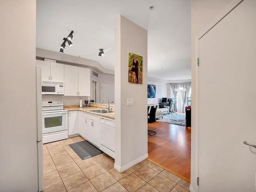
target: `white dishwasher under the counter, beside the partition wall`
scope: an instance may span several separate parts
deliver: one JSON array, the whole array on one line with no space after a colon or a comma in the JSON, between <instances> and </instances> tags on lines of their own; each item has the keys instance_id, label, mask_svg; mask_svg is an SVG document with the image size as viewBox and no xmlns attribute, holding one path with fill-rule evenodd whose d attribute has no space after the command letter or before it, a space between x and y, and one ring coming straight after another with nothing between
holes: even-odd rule
<instances>
[{"instance_id":1,"label":"white dishwasher under the counter, beside the partition wall","mask_svg":"<svg viewBox=\"0 0 256 192\"><path fill-rule=\"evenodd\" d=\"M103 146L102 151L104 151L104 147L106 147L105 148L106 151L111 150L112 152L115 152L115 120L105 118L105 117L100 117L99 122L100 122L100 144Z\"/></svg>"}]
</instances>

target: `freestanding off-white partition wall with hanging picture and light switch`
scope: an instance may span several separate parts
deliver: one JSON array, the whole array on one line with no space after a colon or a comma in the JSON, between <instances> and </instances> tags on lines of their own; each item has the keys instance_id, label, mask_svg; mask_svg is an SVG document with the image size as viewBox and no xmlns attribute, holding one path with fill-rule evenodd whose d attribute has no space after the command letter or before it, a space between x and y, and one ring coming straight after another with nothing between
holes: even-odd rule
<instances>
[{"instance_id":1,"label":"freestanding off-white partition wall with hanging picture and light switch","mask_svg":"<svg viewBox=\"0 0 256 192\"><path fill-rule=\"evenodd\" d=\"M128 53L143 56L143 84L128 82ZM133 98L134 106L126 106ZM115 168L147 155L147 31L123 16L115 20Z\"/></svg>"}]
</instances>

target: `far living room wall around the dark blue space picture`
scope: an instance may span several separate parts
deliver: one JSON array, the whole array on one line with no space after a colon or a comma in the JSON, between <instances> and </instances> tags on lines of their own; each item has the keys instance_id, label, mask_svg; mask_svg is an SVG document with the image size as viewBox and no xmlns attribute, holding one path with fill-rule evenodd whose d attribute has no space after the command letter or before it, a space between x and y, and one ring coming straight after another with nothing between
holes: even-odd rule
<instances>
[{"instance_id":1,"label":"far living room wall around the dark blue space picture","mask_svg":"<svg viewBox=\"0 0 256 192\"><path fill-rule=\"evenodd\" d=\"M167 83L157 81L147 81L147 84L156 85L156 98L147 98L147 104L155 104L162 101L162 97L167 97Z\"/></svg>"}]
</instances>

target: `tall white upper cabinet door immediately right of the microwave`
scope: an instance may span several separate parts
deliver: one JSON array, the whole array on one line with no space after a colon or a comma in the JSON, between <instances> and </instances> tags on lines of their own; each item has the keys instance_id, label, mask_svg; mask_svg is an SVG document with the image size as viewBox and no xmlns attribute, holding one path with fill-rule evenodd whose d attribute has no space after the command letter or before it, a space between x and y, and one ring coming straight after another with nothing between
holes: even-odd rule
<instances>
[{"instance_id":1,"label":"tall white upper cabinet door immediately right of the microwave","mask_svg":"<svg viewBox=\"0 0 256 192\"><path fill-rule=\"evenodd\" d=\"M65 65L64 72L65 95L78 95L78 67Z\"/></svg>"}]
</instances>

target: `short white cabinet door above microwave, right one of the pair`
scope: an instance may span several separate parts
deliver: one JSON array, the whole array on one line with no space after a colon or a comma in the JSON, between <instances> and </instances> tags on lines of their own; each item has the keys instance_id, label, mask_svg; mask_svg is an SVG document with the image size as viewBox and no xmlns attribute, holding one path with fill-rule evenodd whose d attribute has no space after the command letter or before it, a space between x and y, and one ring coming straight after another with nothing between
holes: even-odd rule
<instances>
[{"instance_id":1,"label":"short white cabinet door above microwave, right one of the pair","mask_svg":"<svg viewBox=\"0 0 256 192\"><path fill-rule=\"evenodd\" d=\"M51 62L51 81L64 82L64 65Z\"/></svg>"}]
</instances>

